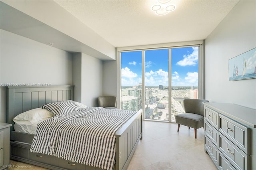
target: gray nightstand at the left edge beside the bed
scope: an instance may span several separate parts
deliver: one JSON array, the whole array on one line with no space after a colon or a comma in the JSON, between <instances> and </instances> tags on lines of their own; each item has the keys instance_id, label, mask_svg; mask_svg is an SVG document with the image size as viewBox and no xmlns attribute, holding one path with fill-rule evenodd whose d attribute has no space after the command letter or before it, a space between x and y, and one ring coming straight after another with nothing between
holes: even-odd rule
<instances>
[{"instance_id":1,"label":"gray nightstand at the left edge beside the bed","mask_svg":"<svg viewBox=\"0 0 256 170\"><path fill-rule=\"evenodd\" d=\"M10 127L8 123L0 123L0 170L7 169L10 164Z\"/></svg>"}]
</instances>

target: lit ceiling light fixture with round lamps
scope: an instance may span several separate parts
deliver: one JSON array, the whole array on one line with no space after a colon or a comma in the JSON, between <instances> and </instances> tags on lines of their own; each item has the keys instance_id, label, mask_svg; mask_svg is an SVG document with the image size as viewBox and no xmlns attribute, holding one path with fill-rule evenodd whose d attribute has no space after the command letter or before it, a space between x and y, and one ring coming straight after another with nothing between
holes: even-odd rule
<instances>
[{"instance_id":1,"label":"lit ceiling light fixture with round lamps","mask_svg":"<svg viewBox=\"0 0 256 170\"><path fill-rule=\"evenodd\" d=\"M171 11L174 11L176 5L170 4L172 0L158 0L158 3L151 7L157 15L166 15Z\"/></svg>"}]
</instances>

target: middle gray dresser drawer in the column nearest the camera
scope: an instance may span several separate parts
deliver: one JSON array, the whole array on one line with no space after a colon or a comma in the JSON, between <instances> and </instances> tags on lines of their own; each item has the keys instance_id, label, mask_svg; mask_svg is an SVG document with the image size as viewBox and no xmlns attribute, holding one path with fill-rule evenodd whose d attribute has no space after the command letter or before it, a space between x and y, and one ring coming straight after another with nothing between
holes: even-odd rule
<instances>
[{"instance_id":1,"label":"middle gray dresser drawer in the column nearest the camera","mask_svg":"<svg viewBox=\"0 0 256 170\"><path fill-rule=\"evenodd\" d=\"M219 133L219 150L227 160L239 170L247 170L249 167L249 155L233 144L228 138Z\"/></svg>"}]
</instances>

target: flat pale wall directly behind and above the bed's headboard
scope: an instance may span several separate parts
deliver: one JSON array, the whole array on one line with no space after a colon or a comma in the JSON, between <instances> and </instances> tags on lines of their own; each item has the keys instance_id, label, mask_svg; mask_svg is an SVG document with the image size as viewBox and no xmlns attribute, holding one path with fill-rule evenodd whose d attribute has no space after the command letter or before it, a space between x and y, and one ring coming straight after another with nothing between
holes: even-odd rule
<instances>
[{"instance_id":1,"label":"flat pale wall directly behind and above the bed's headboard","mask_svg":"<svg viewBox=\"0 0 256 170\"><path fill-rule=\"evenodd\" d=\"M6 122L5 83L72 85L72 54L0 30L0 122Z\"/></svg>"}]
</instances>

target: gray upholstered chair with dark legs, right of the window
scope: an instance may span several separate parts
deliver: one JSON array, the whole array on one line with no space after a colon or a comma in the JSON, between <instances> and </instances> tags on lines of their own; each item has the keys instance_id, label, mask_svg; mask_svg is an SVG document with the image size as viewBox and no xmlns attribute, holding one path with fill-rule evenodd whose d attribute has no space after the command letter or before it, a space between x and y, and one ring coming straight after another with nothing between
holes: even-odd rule
<instances>
[{"instance_id":1,"label":"gray upholstered chair with dark legs, right of the window","mask_svg":"<svg viewBox=\"0 0 256 170\"><path fill-rule=\"evenodd\" d=\"M185 113L175 115L176 123L178 123L178 132L180 125L192 127L195 131L198 128L204 127L204 104L203 102L209 102L208 100L202 99L184 99L184 110Z\"/></svg>"}]
</instances>

